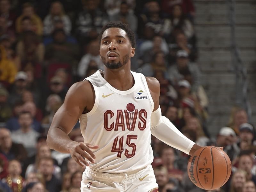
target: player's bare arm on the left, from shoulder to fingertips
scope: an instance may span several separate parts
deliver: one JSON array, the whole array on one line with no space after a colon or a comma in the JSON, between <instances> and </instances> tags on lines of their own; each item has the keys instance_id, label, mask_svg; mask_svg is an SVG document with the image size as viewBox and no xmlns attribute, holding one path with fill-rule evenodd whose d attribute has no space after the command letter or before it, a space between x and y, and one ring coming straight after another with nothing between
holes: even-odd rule
<instances>
[{"instance_id":1,"label":"player's bare arm on the left, from shoulder to fingertips","mask_svg":"<svg viewBox=\"0 0 256 192\"><path fill-rule=\"evenodd\" d=\"M70 153L71 157L82 167L89 165L84 158L93 162L95 156L89 143L78 143L68 137L75 126L78 118L84 109L92 108L94 95L92 86L88 81L73 84L67 92L64 103L53 117L52 124L47 134L47 144L49 148L61 153Z\"/></svg>"}]
</instances>

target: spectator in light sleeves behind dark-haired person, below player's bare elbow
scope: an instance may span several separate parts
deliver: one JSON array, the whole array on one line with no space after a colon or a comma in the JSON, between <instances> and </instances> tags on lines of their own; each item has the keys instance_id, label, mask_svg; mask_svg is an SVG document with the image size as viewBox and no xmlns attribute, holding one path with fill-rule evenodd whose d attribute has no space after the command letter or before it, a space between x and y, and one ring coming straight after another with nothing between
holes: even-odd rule
<instances>
[{"instance_id":1,"label":"spectator in light sleeves behind dark-haired person, below player's bare elbow","mask_svg":"<svg viewBox=\"0 0 256 192\"><path fill-rule=\"evenodd\" d=\"M37 152L36 152L36 161L33 164L28 165L27 170L26 170L26 177L28 173L30 172L38 172L38 164L41 158L43 157L52 157L51 156L51 150L50 148L44 144L41 145ZM56 160L54 160L56 162ZM53 174L55 175L56 178L60 179L61 178L61 170L60 167L57 165L54 165L53 168Z\"/></svg>"}]
</instances>

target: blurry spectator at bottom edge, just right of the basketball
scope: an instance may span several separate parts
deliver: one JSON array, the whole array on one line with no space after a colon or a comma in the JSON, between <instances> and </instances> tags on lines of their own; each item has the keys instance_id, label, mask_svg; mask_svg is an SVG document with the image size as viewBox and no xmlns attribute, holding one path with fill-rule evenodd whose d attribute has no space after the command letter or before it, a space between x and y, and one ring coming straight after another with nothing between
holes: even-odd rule
<instances>
[{"instance_id":1,"label":"blurry spectator at bottom edge, just right of the basketball","mask_svg":"<svg viewBox=\"0 0 256 192\"><path fill-rule=\"evenodd\" d=\"M237 170L231 179L230 192L243 192L243 187L246 182L246 172Z\"/></svg>"}]
</instances>

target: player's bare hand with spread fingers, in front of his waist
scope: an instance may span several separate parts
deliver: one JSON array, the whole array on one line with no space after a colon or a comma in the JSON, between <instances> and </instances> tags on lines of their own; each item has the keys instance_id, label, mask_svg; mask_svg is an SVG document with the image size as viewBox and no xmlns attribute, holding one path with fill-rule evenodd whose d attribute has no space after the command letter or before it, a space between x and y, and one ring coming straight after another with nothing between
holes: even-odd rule
<instances>
[{"instance_id":1,"label":"player's bare hand with spread fingers, in front of his waist","mask_svg":"<svg viewBox=\"0 0 256 192\"><path fill-rule=\"evenodd\" d=\"M92 145L90 143L78 143L73 142L69 148L71 157L78 163L81 167L89 166L89 163L85 161L84 158L88 159L92 163L95 163L94 159L96 158L91 149L99 148L98 145Z\"/></svg>"}]
</instances>

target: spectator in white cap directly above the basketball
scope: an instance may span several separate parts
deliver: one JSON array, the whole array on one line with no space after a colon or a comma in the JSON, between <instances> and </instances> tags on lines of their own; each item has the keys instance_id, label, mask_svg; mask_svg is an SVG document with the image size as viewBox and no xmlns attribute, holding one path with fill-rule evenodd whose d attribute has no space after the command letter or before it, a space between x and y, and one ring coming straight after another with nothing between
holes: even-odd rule
<instances>
[{"instance_id":1,"label":"spectator in white cap directly above the basketball","mask_svg":"<svg viewBox=\"0 0 256 192\"><path fill-rule=\"evenodd\" d=\"M236 133L230 127L222 127L217 135L216 146L224 147L232 161L239 154L239 147L236 144Z\"/></svg>"}]
</instances>

